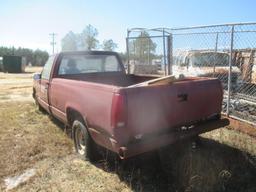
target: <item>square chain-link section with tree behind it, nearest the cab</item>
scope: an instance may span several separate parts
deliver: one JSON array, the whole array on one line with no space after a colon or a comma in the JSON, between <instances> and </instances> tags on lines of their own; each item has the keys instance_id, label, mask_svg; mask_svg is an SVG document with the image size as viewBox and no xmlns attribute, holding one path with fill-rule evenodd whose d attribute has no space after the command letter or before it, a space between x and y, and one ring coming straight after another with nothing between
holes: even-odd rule
<instances>
[{"instance_id":1,"label":"square chain-link section with tree behind it, nearest the cab","mask_svg":"<svg viewBox=\"0 0 256 192\"><path fill-rule=\"evenodd\" d=\"M128 71L134 74L167 75L170 33L136 28L128 30L128 36Z\"/></svg>"}]
</instances>

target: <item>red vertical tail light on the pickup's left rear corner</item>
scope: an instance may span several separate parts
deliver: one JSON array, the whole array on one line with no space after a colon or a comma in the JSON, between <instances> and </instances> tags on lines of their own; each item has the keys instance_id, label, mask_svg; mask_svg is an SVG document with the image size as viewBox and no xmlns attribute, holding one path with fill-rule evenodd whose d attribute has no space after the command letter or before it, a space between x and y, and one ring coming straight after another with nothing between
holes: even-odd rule
<instances>
[{"instance_id":1,"label":"red vertical tail light on the pickup's left rear corner","mask_svg":"<svg viewBox=\"0 0 256 192\"><path fill-rule=\"evenodd\" d=\"M114 94L111 111L111 126L113 128L124 127L126 125L126 108L124 95Z\"/></svg>"}]
</instances>

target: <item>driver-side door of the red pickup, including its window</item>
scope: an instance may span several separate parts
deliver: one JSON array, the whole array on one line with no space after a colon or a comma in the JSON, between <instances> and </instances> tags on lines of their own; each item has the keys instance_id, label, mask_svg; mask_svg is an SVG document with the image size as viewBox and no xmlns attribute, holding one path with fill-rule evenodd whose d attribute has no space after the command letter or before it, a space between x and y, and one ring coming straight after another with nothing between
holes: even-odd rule
<instances>
[{"instance_id":1,"label":"driver-side door of the red pickup, including its window","mask_svg":"<svg viewBox=\"0 0 256 192\"><path fill-rule=\"evenodd\" d=\"M48 61L46 62L42 74L41 74L41 82L40 82L40 90L38 94L38 102L40 105L49 111L49 100L48 100L48 89L49 89L49 81L50 81L50 75L52 70L52 65L54 63L55 56L49 57Z\"/></svg>"}]
</instances>

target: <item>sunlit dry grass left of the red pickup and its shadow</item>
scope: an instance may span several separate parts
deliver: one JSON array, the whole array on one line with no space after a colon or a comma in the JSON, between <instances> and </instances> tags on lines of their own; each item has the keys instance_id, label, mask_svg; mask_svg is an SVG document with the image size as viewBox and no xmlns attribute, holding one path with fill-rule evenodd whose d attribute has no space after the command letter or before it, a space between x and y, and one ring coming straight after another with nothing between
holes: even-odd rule
<instances>
[{"instance_id":1,"label":"sunlit dry grass left of the red pickup and its shadow","mask_svg":"<svg viewBox=\"0 0 256 192\"><path fill-rule=\"evenodd\" d=\"M0 186L3 179L36 169L17 191L121 191L128 189L113 173L82 161L61 124L36 110L31 102L0 104Z\"/></svg>"}]
</instances>

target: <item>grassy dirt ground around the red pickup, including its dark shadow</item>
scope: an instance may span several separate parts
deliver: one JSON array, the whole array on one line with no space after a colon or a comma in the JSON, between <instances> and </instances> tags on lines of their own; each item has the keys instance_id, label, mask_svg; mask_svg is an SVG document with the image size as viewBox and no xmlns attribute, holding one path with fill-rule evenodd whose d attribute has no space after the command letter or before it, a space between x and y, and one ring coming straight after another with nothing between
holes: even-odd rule
<instances>
[{"instance_id":1,"label":"grassy dirt ground around the red pickup, including its dark shadow","mask_svg":"<svg viewBox=\"0 0 256 192\"><path fill-rule=\"evenodd\" d=\"M63 125L33 103L38 70L0 73L0 191L28 169L35 175L10 191L256 191L256 138L228 127L196 148L186 140L126 161L80 159Z\"/></svg>"}]
</instances>

